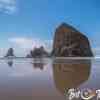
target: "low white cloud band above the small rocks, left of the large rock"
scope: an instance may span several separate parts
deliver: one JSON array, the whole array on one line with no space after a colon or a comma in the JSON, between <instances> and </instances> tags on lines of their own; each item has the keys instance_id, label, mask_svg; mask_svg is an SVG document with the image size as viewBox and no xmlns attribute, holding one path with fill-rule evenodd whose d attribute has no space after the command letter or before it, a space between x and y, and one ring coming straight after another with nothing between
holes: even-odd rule
<instances>
[{"instance_id":1,"label":"low white cloud band above the small rocks, left of the large rock","mask_svg":"<svg viewBox=\"0 0 100 100\"><path fill-rule=\"evenodd\" d=\"M46 49L52 45L52 40L41 40L38 38L10 38L8 41L23 49L32 49L34 47L44 46ZM50 49L50 48L49 48Z\"/></svg>"}]
</instances>

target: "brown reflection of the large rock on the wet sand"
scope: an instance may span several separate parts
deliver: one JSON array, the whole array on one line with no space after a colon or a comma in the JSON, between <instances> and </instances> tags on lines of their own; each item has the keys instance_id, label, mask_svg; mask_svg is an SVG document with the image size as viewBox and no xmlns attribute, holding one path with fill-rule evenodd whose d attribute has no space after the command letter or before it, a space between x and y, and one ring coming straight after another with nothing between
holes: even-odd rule
<instances>
[{"instance_id":1,"label":"brown reflection of the large rock on the wet sand","mask_svg":"<svg viewBox=\"0 0 100 100\"><path fill-rule=\"evenodd\" d=\"M79 87L88 80L90 68L90 61L53 64L53 75L56 88L64 94L64 89L68 91L68 89Z\"/></svg>"}]
</instances>

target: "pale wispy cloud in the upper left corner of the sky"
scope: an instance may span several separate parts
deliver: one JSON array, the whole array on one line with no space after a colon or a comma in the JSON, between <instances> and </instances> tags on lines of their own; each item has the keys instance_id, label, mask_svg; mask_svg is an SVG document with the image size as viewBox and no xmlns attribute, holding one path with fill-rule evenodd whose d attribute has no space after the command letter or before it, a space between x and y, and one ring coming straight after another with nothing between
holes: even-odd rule
<instances>
[{"instance_id":1,"label":"pale wispy cloud in the upper left corner of the sky","mask_svg":"<svg viewBox=\"0 0 100 100\"><path fill-rule=\"evenodd\" d=\"M0 0L0 12L12 14L16 9L16 0Z\"/></svg>"}]
</instances>

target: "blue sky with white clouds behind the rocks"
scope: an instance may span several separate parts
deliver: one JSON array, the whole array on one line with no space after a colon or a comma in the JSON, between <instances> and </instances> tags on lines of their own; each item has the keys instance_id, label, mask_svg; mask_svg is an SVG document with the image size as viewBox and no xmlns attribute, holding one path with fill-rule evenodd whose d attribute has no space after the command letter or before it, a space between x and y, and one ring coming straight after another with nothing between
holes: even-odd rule
<instances>
[{"instance_id":1,"label":"blue sky with white clouds behind the rocks","mask_svg":"<svg viewBox=\"0 0 100 100\"><path fill-rule=\"evenodd\" d=\"M100 0L0 0L0 56L13 47L24 56L43 45L52 49L55 29L66 22L100 46Z\"/></svg>"}]
</instances>

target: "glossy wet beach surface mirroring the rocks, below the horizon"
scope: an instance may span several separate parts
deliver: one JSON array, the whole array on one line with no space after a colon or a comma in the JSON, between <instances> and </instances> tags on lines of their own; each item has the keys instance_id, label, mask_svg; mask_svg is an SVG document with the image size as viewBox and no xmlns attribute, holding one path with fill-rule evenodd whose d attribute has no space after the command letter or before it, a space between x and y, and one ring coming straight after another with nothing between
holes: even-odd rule
<instances>
[{"instance_id":1,"label":"glossy wet beach surface mirroring the rocks, below the horizon","mask_svg":"<svg viewBox=\"0 0 100 100\"><path fill-rule=\"evenodd\" d=\"M65 89L100 89L100 59L1 59L0 100L67 100Z\"/></svg>"}]
</instances>

